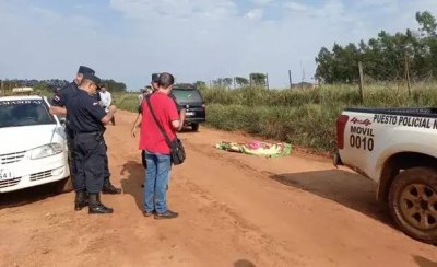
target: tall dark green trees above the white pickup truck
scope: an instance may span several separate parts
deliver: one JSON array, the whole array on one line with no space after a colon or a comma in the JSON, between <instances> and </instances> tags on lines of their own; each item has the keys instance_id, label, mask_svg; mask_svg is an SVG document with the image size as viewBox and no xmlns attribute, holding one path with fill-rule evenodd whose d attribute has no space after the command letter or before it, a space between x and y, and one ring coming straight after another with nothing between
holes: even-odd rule
<instances>
[{"instance_id":1,"label":"tall dark green trees above the white pickup truck","mask_svg":"<svg viewBox=\"0 0 437 267\"><path fill-rule=\"evenodd\" d=\"M316 57L315 78L326 83L352 83L359 79L362 62L366 79L413 81L437 78L437 22L428 12L416 12L418 31L394 35L381 31L377 37L357 45L322 47Z\"/></svg>"}]
</instances>

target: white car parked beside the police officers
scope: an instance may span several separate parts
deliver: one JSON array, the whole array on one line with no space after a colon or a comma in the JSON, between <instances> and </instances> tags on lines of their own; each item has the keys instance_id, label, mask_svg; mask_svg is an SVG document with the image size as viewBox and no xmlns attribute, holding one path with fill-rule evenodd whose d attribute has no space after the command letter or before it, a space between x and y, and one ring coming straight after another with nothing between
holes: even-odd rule
<instances>
[{"instance_id":1,"label":"white car parked beside the police officers","mask_svg":"<svg viewBox=\"0 0 437 267\"><path fill-rule=\"evenodd\" d=\"M42 96L0 97L0 193L59 182L71 190L64 127Z\"/></svg>"}]
</instances>

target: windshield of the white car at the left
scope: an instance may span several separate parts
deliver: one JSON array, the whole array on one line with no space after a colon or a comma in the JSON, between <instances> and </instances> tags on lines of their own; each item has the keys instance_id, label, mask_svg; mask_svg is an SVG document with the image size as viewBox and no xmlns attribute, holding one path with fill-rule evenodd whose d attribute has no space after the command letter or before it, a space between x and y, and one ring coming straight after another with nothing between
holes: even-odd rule
<instances>
[{"instance_id":1,"label":"windshield of the white car at the left","mask_svg":"<svg viewBox=\"0 0 437 267\"><path fill-rule=\"evenodd\" d=\"M0 128L55 124L43 100L0 101Z\"/></svg>"}]
</instances>

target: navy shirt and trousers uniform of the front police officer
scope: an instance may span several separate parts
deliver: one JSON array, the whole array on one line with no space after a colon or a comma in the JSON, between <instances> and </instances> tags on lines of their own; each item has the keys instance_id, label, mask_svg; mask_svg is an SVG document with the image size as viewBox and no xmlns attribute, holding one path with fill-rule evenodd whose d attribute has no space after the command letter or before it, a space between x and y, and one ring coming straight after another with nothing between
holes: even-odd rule
<instances>
[{"instance_id":1,"label":"navy shirt and trousers uniform of the front police officer","mask_svg":"<svg viewBox=\"0 0 437 267\"><path fill-rule=\"evenodd\" d=\"M107 169L105 130L101 123L106 116L105 109L95 96L78 90L67 103L69 127L74 132L75 150L75 190L90 194L102 191Z\"/></svg>"}]
</instances>

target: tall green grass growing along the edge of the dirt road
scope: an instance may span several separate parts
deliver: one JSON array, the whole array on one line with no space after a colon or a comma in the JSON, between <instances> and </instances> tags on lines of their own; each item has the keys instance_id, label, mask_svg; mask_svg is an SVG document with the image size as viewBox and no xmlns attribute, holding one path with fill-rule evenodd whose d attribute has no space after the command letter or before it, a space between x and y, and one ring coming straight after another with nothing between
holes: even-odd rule
<instances>
[{"instance_id":1,"label":"tall green grass growing along the edge of the dirt road","mask_svg":"<svg viewBox=\"0 0 437 267\"><path fill-rule=\"evenodd\" d=\"M409 94L402 84L374 84L361 103L356 85L322 85L310 90L202 90L208 125L291 142L316 152L335 149L335 120L345 107L435 106L437 83L417 83ZM138 94L116 95L122 109L137 111ZM232 141L232 140L229 140Z\"/></svg>"}]
</instances>

